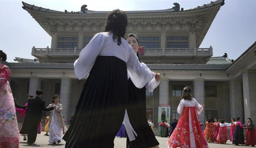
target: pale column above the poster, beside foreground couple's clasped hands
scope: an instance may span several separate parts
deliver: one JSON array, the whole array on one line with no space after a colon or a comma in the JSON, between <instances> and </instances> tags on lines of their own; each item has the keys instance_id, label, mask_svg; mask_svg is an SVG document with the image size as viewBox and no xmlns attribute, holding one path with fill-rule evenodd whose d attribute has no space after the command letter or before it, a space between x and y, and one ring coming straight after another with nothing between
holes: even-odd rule
<instances>
[{"instance_id":1,"label":"pale column above the poster, beside foreground couple's clasped hands","mask_svg":"<svg viewBox=\"0 0 256 148\"><path fill-rule=\"evenodd\" d=\"M169 105L169 79L161 78L159 84L159 105Z\"/></svg>"}]
</instances>

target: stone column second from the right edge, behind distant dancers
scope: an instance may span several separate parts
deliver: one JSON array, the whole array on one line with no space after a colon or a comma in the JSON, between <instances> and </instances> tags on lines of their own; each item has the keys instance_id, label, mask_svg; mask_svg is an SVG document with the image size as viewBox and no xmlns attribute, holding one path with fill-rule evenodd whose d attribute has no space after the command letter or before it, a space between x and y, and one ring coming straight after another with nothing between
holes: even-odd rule
<instances>
[{"instance_id":1,"label":"stone column second from the right edge, behind distant dancers","mask_svg":"<svg viewBox=\"0 0 256 148\"><path fill-rule=\"evenodd\" d=\"M241 84L241 80L232 79L229 82L231 118L235 119L236 117L241 117L241 119L244 119Z\"/></svg>"}]
</instances>

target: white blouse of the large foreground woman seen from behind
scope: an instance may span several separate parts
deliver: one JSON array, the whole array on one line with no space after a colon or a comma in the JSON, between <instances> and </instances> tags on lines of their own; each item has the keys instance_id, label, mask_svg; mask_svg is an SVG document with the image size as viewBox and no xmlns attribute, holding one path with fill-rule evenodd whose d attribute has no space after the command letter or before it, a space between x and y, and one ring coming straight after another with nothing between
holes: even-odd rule
<instances>
[{"instance_id":1,"label":"white blouse of the large foreground woman seen from behind","mask_svg":"<svg viewBox=\"0 0 256 148\"><path fill-rule=\"evenodd\" d=\"M132 47L124 38L121 42L121 45L117 45L117 41L113 41L113 34L109 32L95 34L74 62L74 73L78 79L88 76L98 56L114 56L127 64L127 72L137 88L142 88L150 82L155 74L147 66L140 64Z\"/></svg>"}]
</instances>

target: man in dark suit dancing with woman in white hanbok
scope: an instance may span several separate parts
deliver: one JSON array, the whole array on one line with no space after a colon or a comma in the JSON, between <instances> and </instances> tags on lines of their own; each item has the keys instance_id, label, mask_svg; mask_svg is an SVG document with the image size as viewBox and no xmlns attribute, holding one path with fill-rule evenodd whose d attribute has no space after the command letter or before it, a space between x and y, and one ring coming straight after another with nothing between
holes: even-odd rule
<instances>
[{"instance_id":1,"label":"man in dark suit dancing with woman in white hanbok","mask_svg":"<svg viewBox=\"0 0 256 148\"><path fill-rule=\"evenodd\" d=\"M20 130L20 134L27 134L28 145L31 145L36 140L37 128L42 118L42 111L50 111L56 108L56 106L46 108L44 100L41 99L42 95L42 90L36 90L36 97L28 99L27 114Z\"/></svg>"}]
</instances>

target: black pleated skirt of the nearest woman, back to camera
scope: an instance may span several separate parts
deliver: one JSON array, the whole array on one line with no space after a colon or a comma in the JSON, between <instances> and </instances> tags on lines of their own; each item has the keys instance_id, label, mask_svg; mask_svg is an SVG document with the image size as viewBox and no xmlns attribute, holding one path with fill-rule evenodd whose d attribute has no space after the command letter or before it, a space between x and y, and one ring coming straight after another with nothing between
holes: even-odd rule
<instances>
[{"instance_id":1,"label":"black pleated skirt of the nearest woman, back to camera","mask_svg":"<svg viewBox=\"0 0 256 148\"><path fill-rule=\"evenodd\" d=\"M77 103L65 148L114 148L128 97L126 63L98 56Z\"/></svg>"}]
</instances>

